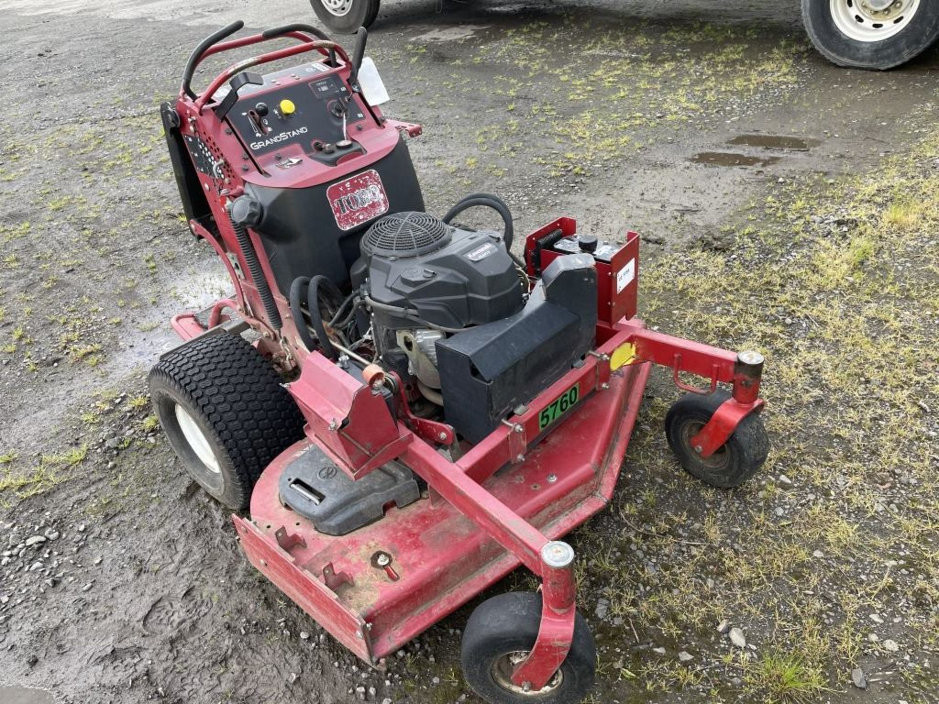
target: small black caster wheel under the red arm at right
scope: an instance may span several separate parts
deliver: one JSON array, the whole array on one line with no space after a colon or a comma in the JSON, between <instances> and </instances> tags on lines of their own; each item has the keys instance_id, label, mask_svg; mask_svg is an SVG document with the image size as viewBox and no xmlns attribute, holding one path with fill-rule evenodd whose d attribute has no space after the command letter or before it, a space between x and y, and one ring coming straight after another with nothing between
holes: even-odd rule
<instances>
[{"instance_id":1,"label":"small black caster wheel under the red arm at right","mask_svg":"<svg viewBox=\"0 0 939 704\"><path fill-rule=\"evenodd\" d=\"M769 453L769 436L762 419L751 413L740 422L730 439L710 457L701 457L691 447L691 438L711 420L731 394L717 390L703 396L688 393L676 401L665 417L665 435L682 467L702 482L730 489L756 474Z\"/></svg>"}]
</instances>

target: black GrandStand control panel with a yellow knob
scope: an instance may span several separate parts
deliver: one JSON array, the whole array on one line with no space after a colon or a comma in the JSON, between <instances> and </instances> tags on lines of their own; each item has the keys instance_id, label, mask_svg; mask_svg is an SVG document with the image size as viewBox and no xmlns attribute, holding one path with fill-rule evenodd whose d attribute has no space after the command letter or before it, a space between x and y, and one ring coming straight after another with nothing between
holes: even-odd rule
<instances>
[{"instance_id":1,"label":"black GrandStand control panel with a yellow knob","mask_svg":"<svg viewBox=\"0 0 939 704\"><path fill-rule=\"evenodd\" d=\"M241 84L226 118L252 157L288 145L326 162L355 151L348 134L365 115L359 99L332 71L318 61L257 77L258 84ZM221 91L216 97L223 97Z\"/></svg>"}]
</instances>

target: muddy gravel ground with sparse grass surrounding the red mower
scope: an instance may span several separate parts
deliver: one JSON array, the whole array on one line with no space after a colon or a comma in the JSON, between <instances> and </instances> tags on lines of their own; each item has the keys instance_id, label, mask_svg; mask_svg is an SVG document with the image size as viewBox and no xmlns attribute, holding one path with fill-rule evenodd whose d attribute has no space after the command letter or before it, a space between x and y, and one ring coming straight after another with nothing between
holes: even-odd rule
<instances>
[{"instance_id":1,"label":"muddy gravel ground with sparse grass surrounding the red mower","mask_svg":"<svg viewBox=\"0 0 939 704\"><path fill-rule=\"evenodd\" d=\"M150 415L169 316L226 288L159 103L210 28L313 17L221 5L0 0L0 700L474 701L476 602L363 667L254 573ZM594 702L939 701L939 54L836 69L797 6L388 3L370 35L429 210L484 189L522 231L638 230L651 325L767 355L758 480L678 470L660 373L571 537Z\"/></svg>"}]
</instances>

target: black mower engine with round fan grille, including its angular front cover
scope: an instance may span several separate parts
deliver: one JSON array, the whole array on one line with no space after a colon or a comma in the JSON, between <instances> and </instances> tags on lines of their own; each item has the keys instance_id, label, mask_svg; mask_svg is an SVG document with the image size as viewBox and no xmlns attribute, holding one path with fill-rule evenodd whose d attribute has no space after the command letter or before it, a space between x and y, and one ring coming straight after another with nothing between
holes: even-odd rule
<instances>
[{"instance_id":1,"label":"black mower engine with round fan grille, including its angular front cover","mask_svg":"<svg viewBox=\"0 0 939 704\"><path fill-rule=\"evenodd\" d=\"M529 291L503 236L398 212L362 237L350 275L382 366L478 442L593 346L596 270L559 257ZM362 313L365 315L366 313Z\"/></svg>"}]
</instances>

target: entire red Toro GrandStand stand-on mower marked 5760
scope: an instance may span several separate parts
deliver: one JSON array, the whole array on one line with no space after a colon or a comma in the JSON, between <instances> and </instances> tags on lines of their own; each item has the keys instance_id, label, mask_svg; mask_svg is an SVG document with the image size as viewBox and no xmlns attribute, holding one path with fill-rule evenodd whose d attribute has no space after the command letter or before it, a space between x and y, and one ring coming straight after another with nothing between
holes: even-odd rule
<instances>
[{"instance_id":1,"label":"entire red Toro GrandStand stand-on mower marked 5760","mask_svg":"<svg viewBox=\"0 0 939 704\"><path fill-rule=\"evenodd\" d=\"M150 375L162 427L209 494L250 506L233 521L254 567L372 666L525 565L541 589L476 608L466 679L489 702L575 702L596 656L559 539L611 497L652 363L692 391L666 421L679 461L730 487L768 448L762 358L634 318L635 233L561 218L519 257L494 195L425 213L402 135L421 128L381 115L364 30L349 57L302 24L224 40L241 26L162 106L192 233L234 287L173 319L184 342ZM274 39L295 43L193 91L208 56ZM504 229L457 224L470 207Z\"/></svg>"}]
</instances>

